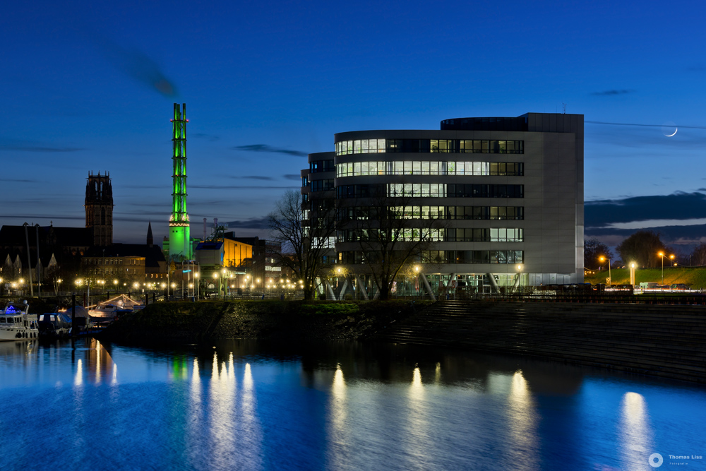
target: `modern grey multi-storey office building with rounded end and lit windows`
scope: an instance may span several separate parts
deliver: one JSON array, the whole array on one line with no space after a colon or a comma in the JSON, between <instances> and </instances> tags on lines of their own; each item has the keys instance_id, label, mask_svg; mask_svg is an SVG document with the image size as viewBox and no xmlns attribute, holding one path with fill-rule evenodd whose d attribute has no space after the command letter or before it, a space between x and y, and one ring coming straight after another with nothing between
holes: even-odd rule
<instances>
[{"instance_id":1,"label":"modern grey multi-storey office building with rounded end and lit windows","mask_svg":"<svg viewBox=\"0 0 706 471\"><path fill-rule=\"evenodd\" d=\"M301 172L304 220L337 206L335 254L354 273L381 257L370 242L390 217L403 220L395 237L420 242L407 264L421 290L583 282L583 145L580 114L337 133Z\"/></svg>"}]
</instances>

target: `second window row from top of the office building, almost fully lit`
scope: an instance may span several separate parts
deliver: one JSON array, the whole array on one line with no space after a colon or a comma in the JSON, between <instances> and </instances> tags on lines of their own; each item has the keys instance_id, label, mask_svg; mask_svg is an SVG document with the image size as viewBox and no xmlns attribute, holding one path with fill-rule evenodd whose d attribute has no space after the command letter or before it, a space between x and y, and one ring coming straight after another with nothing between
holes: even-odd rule
<instances>
[{"instance_id":1,"label":"second window row from top of the office building, almost fully lit","mask_svg":"<svg viewBox=\"0 0 706 471\"><path fill-rule=\"evenodd\" d=\"M370 175L507 175L522 177L522 162L347 162L336 165L336 177Z\"/></svg>"}]
</instances>

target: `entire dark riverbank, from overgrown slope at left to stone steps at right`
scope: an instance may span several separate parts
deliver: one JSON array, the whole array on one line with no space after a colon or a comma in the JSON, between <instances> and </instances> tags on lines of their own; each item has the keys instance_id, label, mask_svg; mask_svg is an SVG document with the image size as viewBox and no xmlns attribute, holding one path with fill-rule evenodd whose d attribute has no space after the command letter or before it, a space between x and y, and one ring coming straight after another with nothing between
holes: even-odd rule
<instances>
[{"instance_id":1,"label":"entire dark riverbank, from overgrown slope at left to stone steps at right","mask_svg":"<svg viewBox=\"0 0 706 471\"><path fill-rule=\"evenodd\" d=\"M226 339L373 340L518 354L706 383L706 306L165 302L121 318L100 337L139 345Z\"/></svg>"}]
</instances>

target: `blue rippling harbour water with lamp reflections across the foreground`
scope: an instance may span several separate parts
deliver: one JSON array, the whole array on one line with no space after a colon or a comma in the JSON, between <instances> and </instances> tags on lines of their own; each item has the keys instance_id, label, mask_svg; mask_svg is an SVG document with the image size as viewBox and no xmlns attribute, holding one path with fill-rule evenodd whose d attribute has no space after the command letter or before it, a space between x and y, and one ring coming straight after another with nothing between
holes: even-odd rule
<instances>
[{"instance_id":1,"label":"blue rippling harbour water with lamp reflections across the foreground","mask_svg":"<svg viewBox=\"0 0 706 471\"><path fill-rule=\"evenodd\" d=\"M688 383L353 342L0 343L2 470L699 470L705 460L706 388Z\"/></svg>"}]
</instances>

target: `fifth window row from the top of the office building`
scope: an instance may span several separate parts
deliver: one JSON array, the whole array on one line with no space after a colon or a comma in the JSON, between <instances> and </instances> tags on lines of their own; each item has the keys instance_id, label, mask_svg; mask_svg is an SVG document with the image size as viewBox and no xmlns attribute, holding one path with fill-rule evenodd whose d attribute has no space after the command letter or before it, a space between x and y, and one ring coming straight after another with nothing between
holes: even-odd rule
<instances>
[{"instance_id":1,"label":"fifth window row from the top of the office building","mask_svg":"<svg viewBox=\"0 0 706 471\"><path fill-rule=\"evenodd\" d=\"M343 229L338 231L337 242L357 242L359 240L373 240L378 234L376 229ZM395 240L418 241L419 239L435 242L522 242L523 229L518 228L472 228L472 229L434 229L434 228L405 228L399 229L399 236Z\"/></svg>"}]
</instances>

